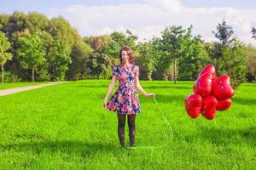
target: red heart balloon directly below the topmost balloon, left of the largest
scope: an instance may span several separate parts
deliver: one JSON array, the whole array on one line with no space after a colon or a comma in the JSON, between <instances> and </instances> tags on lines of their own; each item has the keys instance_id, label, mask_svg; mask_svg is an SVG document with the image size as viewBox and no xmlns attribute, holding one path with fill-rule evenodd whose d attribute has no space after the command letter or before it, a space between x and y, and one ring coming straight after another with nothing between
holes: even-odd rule
<instances>
[{"instance_id":1,"label":"red heart balloon directly below the topmost balloon, left of the largest","mask_svg":"<svg viewBox=\"0 0 256 170\"><path fill-rule=\"evenodd\" d=\"M212 92L212 74L205 73L198 77L195 82L194 88L195 94L200 94L202 97L205 97Z\"/></svg>"}]
</instances>

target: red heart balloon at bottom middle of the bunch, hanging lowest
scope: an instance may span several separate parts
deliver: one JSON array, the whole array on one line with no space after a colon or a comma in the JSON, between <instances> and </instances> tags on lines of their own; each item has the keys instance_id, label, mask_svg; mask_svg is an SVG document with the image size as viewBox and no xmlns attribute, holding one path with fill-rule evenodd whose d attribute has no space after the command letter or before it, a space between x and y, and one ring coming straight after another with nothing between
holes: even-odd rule
<instances>
[{"instance_id":1,"label":"red heart balloon at bottom middle of the bunch, hanging lowest","mask_svg":"<svg viewBox=\"0 0 256 170\"><path fill-rule=\"evenodd\" d=\"M212 95L202 98L201 115L212 120L215 117L217 102Z\"/></svg>"}]
</instances>

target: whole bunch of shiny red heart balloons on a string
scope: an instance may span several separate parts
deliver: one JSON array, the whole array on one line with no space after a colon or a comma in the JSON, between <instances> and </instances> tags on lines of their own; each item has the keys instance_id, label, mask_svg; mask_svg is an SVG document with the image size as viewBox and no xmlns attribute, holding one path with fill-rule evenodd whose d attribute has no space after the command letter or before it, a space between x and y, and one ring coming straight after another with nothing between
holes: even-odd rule
<instances>
[{"instance_id":1,"label":"whole bunch of shiny red heart balloons on a string","mask_svg":"<svg viewBox=\"0 0 256 170\"><path fill-rule=\"evenodd\" d=\"M215 67L207 65L203 68L194 85L194 94L185 99L184 105L191 118L200 115L212 120L216 111L228 110L234 90L230 85L230 77L217 77Z\"/></svg>"}]
</instances>

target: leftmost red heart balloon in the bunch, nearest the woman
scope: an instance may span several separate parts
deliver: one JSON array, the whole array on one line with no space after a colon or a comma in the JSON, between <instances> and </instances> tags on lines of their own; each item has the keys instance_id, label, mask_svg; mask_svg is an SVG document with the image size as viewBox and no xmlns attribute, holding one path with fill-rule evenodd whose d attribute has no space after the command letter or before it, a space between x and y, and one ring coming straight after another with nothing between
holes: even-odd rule
<instances>
[{"instance_id":1,"label":"leftmost red heart balloon in the bunch, nearest the woman","mask_svg":"<svg viewBox=\"0 0 256 170\"><path fill-rule=\"evenodd\" d=\"M201 95L199 94L191 94L185 99L184 105L190 117L196 118L200 115L201 102Z\"/></svg>"}]
</instances>

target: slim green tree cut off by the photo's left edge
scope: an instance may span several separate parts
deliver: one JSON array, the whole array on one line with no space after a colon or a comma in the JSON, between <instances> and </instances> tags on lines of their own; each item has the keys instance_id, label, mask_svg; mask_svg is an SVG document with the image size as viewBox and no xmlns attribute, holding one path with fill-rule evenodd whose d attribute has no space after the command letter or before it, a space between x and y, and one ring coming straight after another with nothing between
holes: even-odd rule
<instances>
[{"instance_id":1,"label":"slim green tree cut off by the photo's left edge","mask_svg":"<svg viewBox=\"0 0 256 170\"><path fill-rule=\"evenodd\" d=\"M10 43L8 41L8 38L5 37L2 31L0 31L0 65L2 70L2 85L4 80L3 65L5 65L7 60L12 59L12 54L6 52L9 48L10 48Z\"/></svg>"}]
</instances>

